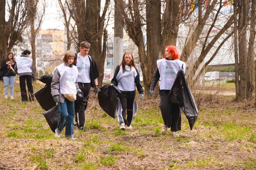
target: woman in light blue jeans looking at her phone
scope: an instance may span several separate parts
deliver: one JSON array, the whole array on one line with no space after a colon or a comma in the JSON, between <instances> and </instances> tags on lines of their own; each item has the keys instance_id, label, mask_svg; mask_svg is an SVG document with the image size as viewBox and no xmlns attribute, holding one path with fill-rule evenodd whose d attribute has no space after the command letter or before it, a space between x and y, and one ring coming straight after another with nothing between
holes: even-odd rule
<instances>
[{"instance_id":1,"label":"woman in light blue jeans looking at her phone","mask_svg":"<svg viewBox=\"0 0 256 170\"><path fill-rule=\"evenodd\" d=\"M14 99L13 94L14 94L14 82L15 82L15 76L16 74L14 73L14 67L15 67L15 60L14 60L14 55L13 52L9 52L7 54L7 58L2 61L1 64L1 75L0 77L3 77L4 81L4 98L8 98L8 88L10 86L10 98Z\"/></svg>"}]
</instances>

